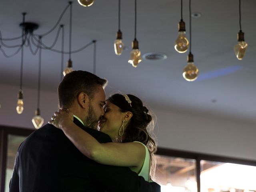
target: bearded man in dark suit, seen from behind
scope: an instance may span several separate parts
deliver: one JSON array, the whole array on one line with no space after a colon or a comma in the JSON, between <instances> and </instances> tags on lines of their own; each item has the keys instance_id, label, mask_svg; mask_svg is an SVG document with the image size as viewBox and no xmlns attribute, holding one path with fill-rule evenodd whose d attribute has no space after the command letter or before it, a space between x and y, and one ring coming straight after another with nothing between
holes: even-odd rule
<instances>
[{"instance_id":1,"label":"bearded man in dark suit, seen from behind","mask_svg":"<svg viewBox=\"0 0 256 192\"><path fill-rule=\"evenodd\" d=\"M67 74L58 87L60 108L69 108L74 123L99 142L112 142L95 130L104 115L106 80L86 71ZM54 118L53 118L54 120ZM98 164L84 156L62 130L46 124L18 149L10 192L160 192L126 167Z\"/></svg>"}]
</instances>

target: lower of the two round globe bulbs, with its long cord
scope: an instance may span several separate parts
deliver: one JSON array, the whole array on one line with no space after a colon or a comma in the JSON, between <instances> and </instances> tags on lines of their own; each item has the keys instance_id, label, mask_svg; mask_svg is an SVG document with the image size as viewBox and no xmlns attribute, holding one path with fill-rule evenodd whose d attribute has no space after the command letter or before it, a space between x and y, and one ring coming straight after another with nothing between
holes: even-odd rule
<instances>
[{"instance_id":1,"label":"lower of the two round globe bulbs, with its long cord","mask_svg":"<svg viewBox=\"0 0 256 192\"><path fill-rule=\"evenodd\" d=\"M190 39L190 45L189 45L189 54L187 56L188 64L183 69L183 77L187 81L194 81L198 77L198 68L194 65L194 56L191 53L191 44L192 44L192 38L191 38L191 0L189 0L189 39Z\"/></svg>"}]
</instances>

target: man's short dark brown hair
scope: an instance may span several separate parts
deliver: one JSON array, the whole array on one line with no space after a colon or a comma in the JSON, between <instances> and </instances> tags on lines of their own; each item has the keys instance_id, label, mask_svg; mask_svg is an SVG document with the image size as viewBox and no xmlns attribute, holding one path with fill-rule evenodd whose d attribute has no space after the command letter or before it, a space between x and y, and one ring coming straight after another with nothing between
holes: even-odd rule
<instances>
[{"instance_id":1,"label":"man's short dark brown hair","mask_svg":"<svg viewBox=\"0 0 256 192\"><path fill-rule=\"evenodd\" d=\"M101 85L105 88L107 84L106 79L99 78L87 71L79 70L66 74L58 86L60 108L69 108L81 92L86 93L92 99L95 92L98 91L97 86Z\"/></svg>"}]
</instances>

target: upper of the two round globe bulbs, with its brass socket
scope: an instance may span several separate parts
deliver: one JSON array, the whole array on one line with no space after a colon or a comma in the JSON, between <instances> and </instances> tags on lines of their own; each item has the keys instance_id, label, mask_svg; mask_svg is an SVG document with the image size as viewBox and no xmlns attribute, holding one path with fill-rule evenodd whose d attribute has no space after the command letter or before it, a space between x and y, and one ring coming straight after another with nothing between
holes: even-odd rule
<instances>
[{"instance_id":1,"label":"upper of the two round globe bulbs, with its brass socket","mask_svg":"<svg viewBox=\"0 0 256 192\"><path fill-rule=\"evenodd\" d=\"M174 48L178 53L185 53L188 50L188 39L186 38L185 22L180 20L178 23L178 38L175 41Z\"/></svg>"}]
</instances>

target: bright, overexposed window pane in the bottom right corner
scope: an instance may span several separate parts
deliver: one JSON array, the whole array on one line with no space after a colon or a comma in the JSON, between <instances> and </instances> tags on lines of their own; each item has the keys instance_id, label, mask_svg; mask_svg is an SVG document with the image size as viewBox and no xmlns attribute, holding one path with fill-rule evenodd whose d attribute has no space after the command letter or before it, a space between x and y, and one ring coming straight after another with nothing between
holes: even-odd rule
<instances>
[{"instance_id":1,"label":"bright, overexposed window pane in the bottom right corner","mask_svg":"<svg viewBox=\"0 0 256 192\"><path fill-rule=\"evenodd\" d=\"M201 161L201 192L255 192L256 166Z\"/></svg>"}]
</instances>

